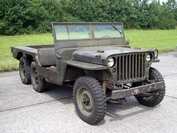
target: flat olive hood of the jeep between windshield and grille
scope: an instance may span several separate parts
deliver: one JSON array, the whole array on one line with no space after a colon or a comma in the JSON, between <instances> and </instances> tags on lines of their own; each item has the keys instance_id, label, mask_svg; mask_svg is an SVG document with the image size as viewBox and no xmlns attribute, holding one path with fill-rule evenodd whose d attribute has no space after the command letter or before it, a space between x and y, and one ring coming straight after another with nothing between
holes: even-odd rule
<instances>
[{"instance_id":1,"label":"flat olive hood of the jeep between windshield and grille","mask_svg":"<svg viewBox=\"0 0 177 133\"><path fill-rule=\"evenodd\" d=\"M103 61L111 55L125 54L125 53L142 53L146 52L139 49L131 49L126 47L86 47L73 52L72 59L82 62L89 62L94 64L103 64Z\"/></svg>"}]
</instances>

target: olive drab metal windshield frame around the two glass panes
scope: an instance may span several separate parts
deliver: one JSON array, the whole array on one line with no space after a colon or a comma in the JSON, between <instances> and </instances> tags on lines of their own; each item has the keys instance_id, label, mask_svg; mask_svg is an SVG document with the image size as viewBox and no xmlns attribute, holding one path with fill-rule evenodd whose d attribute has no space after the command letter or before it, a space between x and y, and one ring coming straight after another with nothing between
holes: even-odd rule
<instances>
[{"instance_id":1,"label":"olive drab metal windshield frame around the two glass panes","mask_svg":"<svg viewBox=\"0 0 177 133\"><path fill-rule=\"evenodd\" d=\"M90 38L82 39L62 39L59 40L56 37L55 26L84 26L88 25L90 30ZM112 37L112 38L95 38L93 31L93 26L96 25L119 25L122 29L122 37ZM54 45L56 49L60 48L76 48L76 47L92 47L92 46L108 46L108 45L119 45L125 46L125 36L123 24L121 22L53 22L52 23ZM118 31L117 31L118 32Z\"/></svg>"}]
</instances>

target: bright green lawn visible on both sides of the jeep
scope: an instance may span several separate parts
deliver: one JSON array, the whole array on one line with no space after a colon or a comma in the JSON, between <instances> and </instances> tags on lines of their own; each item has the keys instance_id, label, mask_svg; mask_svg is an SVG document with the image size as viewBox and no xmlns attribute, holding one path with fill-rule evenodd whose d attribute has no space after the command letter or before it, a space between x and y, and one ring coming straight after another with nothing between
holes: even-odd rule
<instances>
[{"instance_id":1,"label":"bright green lawn visible on both sides of the jeep","mask_svg":"<svg viewBox=\"0 0 177 133\"><path fill-rule=\"evenodd\" d=\"M160 52L174 51L177 44L175 30L126 30L130 46L144 50L157 48ZM12 57L11 46L52 44L51 33L36 35L0 36L0 72L18 69L18 61Z\"/></svg>"}]
</instances>

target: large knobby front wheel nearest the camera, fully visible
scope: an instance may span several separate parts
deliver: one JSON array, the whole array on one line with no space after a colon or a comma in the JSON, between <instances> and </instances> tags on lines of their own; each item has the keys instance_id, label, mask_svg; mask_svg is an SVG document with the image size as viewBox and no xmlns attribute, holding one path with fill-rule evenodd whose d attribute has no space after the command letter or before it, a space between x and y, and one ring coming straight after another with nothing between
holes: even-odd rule
<instances>
[{"instance_id":1,"label":"large knobby front wheel nearest the camera, fully visible","mask_svg":"<svg viewBox=\"0 0 177 133\"><path fill-rule=\"evenodd\" d=\"M106 97L96 79L88 76L78 78L73 97L76 113L83 121L94 125L103 120L107 111Z\"/></svg>"}]
</instances>

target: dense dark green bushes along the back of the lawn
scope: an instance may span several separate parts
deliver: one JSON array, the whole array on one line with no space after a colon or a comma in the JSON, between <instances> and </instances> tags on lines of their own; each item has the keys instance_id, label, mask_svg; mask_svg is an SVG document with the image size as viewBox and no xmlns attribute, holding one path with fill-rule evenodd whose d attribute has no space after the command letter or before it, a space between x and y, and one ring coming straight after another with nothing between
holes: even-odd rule
<instances>
[{"instance_id":1,"label":"dense dark green bushes along the back of the lawn","mask_svg":"<svg viewBox=\"0 0 177 133\"><path fill-rule=\"evenodd\" d=\"M1 0L0 34L51 32L51 22L123 22L125 28L174 29L177 2L168 0Z\"/></svg>"}]
</instances>

